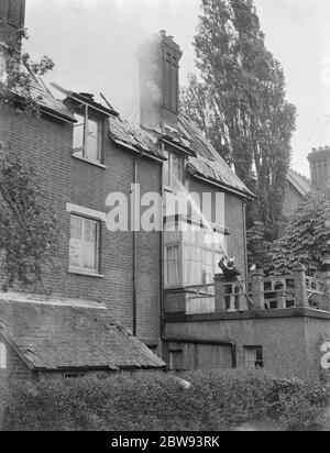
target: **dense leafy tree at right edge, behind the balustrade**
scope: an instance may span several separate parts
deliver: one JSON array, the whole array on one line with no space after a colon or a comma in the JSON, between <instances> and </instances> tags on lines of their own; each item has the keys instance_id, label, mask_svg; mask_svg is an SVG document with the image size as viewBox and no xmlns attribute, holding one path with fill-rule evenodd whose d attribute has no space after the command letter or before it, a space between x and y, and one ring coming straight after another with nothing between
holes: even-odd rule
<instances>
[{"instance_id":1,"label":"dense leafy tree at right edge, behind the balustrade","mask_svg":"<svg viewBox=\"0 0 330 453\"><path fill-rule=\"evenodd\" d=\"M311 192L298 207L284 235L271 248L272 269L286 273L304 264L314 274L330 258L330 187Z\"/></svg>"}]
</instances>

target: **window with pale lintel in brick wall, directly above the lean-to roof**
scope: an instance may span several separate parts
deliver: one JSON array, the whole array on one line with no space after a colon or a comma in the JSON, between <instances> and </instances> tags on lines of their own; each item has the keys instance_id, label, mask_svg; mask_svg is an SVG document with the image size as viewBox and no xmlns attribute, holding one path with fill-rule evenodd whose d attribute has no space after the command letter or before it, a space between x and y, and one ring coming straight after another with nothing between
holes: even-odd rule
<instances>
[{"instance_id":1,"label":"window with pale lintel in brick wall, directly above the lean-to roof","mask_svg":"<svg viewBox=\"0 0 330 453\"><path fill-rule=\"evenodd\" d=\"M99 272L99 222L70 216L69 269Z\"/></svg>"}]
</instances>

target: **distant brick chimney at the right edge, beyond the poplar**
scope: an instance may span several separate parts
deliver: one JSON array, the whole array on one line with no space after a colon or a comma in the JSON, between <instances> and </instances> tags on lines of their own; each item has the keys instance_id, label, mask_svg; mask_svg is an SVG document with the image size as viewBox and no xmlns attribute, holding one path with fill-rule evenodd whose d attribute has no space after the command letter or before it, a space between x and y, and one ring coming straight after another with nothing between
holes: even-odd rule
<instances>
[{"instance_id":1,"label":"distant brick chimney at the right edge, beyond the poplar","mask_svg":"<svg viewBox=\"0 0 330 453\"><path fill-rule=\"evenodd\" d=\"M330 183L330 146L312 148L308 155L311 184L322 189Z\"/></svg>"}]
</instances>

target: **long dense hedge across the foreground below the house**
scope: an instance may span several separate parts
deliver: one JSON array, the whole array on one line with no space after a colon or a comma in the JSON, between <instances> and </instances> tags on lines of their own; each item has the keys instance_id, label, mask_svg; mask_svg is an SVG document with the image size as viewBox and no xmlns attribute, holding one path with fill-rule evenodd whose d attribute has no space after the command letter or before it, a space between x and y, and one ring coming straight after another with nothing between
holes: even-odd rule
<instances>
[{"instance_id":1,"label":"long dense hedge across the foreground below the house","mask_svg":"<svg viewBox=\"0 0 330 453\"><path fill-rule=\"evenodd\" d=\"M11 383L0 388L2 430L223 431L271 422L283 430L330 429L329 391L263 372L190 372L108 379Z\"/></svg>"}]
</instances>

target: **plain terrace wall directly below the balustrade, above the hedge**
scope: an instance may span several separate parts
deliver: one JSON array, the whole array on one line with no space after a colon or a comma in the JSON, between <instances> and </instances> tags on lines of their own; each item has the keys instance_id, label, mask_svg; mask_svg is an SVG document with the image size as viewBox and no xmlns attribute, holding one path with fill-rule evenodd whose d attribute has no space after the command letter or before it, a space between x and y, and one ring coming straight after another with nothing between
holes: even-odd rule
<instances>
[{"instance_id":1,"label":"plain terrace wall directly below the balustrade, above the hedge","mask_svg":"<svg viewBox=\"0 0 330 453\"><path fill-rule=\"evenodd\" d=\"M329 319L318 318L317 311L310 317L287 312L264 319L238 319L234 314L221 320L200 317L195 322L167 322L166 336L183 342L233 341L238 367L245 366L245 346L262 346L265 371L279 377L315 380L320 379L320 339L329 339Z\"/></svg>"}]
</instances>

